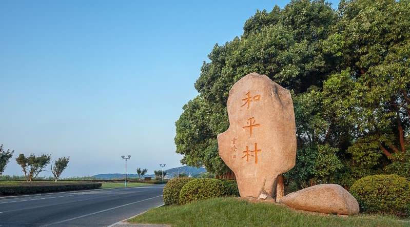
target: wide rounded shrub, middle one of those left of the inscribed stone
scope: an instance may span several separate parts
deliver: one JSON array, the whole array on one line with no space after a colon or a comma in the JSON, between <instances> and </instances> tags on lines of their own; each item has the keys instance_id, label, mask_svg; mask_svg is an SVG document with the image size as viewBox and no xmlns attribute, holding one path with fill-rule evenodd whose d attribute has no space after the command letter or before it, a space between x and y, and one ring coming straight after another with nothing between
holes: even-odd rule
<instances>
[{"instance_id":1,"label":"wide rounded shrub, middle one of those left of the inscribed stone","mask_svg":"<svg viewBox=\"0 0 410 227\"><path fill-rule=\"evenodd\" d=\"M222 180L209 178L193 179L182 187L179 201L180 204L186 204L191 201L225 196L226 192L227 189Z\"/></svg>"}]
</instances>

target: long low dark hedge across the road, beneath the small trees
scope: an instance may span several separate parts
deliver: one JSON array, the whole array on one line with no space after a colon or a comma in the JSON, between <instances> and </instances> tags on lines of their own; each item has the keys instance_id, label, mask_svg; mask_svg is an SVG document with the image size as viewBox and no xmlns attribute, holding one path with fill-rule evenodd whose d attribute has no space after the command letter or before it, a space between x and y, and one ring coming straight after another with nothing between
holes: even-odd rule
<instances>
[{"instance_id":1,"label":"long low dark hedge across the road, beneath the small trees","mask_svg":"<svg viewBox=\"0 0 410 227\"><path fill-rule=\"evenodd\" d=\"M45 192L62 192L101 188L101 183L95 182L2 182L0 195L33 194Z\"/></svg>"}]
</instances>

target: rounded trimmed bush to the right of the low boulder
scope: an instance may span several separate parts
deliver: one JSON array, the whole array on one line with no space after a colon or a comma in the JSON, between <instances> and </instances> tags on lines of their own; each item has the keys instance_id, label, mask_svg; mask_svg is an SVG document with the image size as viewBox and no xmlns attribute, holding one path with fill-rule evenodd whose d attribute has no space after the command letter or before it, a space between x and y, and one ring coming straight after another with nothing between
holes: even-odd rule
<instances>
[{"instance_id":1,"label":"rounded trimmed bush to the right of the low boulder","mask_svg":"<svg viewBox=\"0 0 410 227\"><path fill-rule=\"evenodd\" d=\"M368 213L409 215L410 182L398 175L372 175L357 180L350 188L360 209Z\"/></svg>"}]
</instances>

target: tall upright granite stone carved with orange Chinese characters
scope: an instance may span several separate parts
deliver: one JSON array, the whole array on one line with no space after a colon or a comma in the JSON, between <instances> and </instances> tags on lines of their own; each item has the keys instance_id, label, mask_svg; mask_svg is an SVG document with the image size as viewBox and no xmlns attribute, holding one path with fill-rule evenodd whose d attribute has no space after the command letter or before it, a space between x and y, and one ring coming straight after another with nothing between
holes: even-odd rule
<instances>
[{"instance_id":1,"label":"tall upright granite stone carved with orange Chinese characters","mask_svg":"<svg viewBox=\"0 0 410 227\"><path fill-rule=\"evenodd\" d=\"M229 91L227 110L229 129L218 135L219 155L235 173L241 197L271 197L277 176L295 166L290 92L265 75L251 73Z\"/></svg>"}]
</instances>

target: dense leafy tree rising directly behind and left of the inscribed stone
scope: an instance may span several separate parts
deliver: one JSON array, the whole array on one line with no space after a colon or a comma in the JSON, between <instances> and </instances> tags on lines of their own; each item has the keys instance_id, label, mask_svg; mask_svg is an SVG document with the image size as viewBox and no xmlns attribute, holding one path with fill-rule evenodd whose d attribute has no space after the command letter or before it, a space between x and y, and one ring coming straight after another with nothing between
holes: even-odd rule
<instances>
[{"instance_id":1,"label":"dense leafy tree rising directly behind and left of the inscribed stone","mask_svg":"<svg viewBox=\"0 0 410 227\"><path fill-rule=\"evenodd\" d=\"M246 74L266 74L295 94L321 87L333 66L322 46L335 18L323 1L294 1L284 9L258 11L246 21L241 37L216 44L195 84L199 96L184 106L176 122L181 162L216 174L229 171L218 155L217 135L229 126L228 92Z\"/></svg>"}]
</instances>

